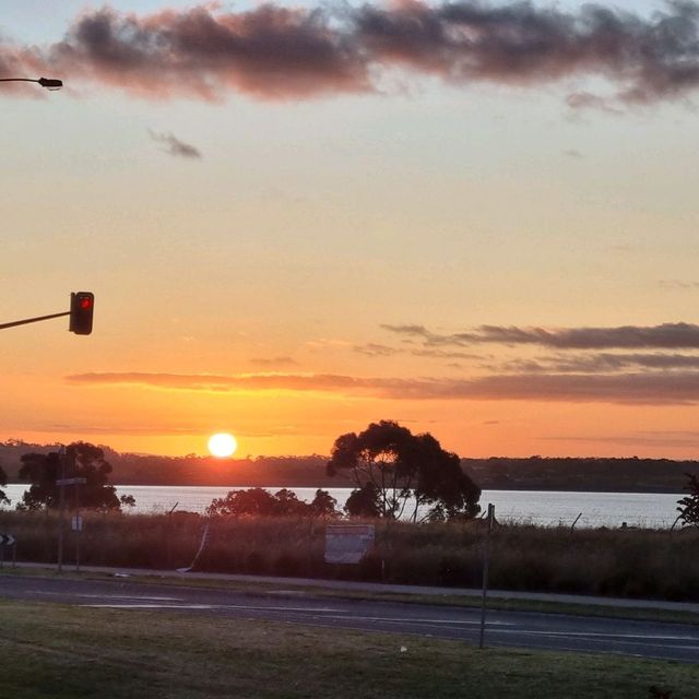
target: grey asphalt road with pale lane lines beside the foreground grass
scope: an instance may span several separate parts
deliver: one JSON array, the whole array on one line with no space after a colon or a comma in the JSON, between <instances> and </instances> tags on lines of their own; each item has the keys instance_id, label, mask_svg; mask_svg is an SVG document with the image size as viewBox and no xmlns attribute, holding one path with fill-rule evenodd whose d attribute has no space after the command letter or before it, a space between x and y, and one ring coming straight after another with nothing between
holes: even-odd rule
<instances>
[{"instance_id":1,"label":"grey asphalt road with pale lane lines beside the foreground grass","mask_svg":"<svg viewBox=\"0 0 699 699\"><path fill-rule=\"evenodd\" d=\"M331 628L408 633L477 643L477 609L316 597L283 589L264 594L108 581L0 576L0 599L93 608L175 609ZM617 653L699 662L699 627L530 612L487 614L486 644Z\"/></svg>"}]
</instances>

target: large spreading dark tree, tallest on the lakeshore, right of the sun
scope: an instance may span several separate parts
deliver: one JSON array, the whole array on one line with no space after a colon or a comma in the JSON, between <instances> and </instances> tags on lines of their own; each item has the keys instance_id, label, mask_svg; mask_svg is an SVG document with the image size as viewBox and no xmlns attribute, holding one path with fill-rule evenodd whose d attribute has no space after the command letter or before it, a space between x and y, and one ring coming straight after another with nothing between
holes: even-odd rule
<instances>
[{"instance_id":1,"label":"large spreading dark tree, tallest on the lakeshore, right of the sun","mask_svg":"<svg viewBox=\"0 0 699 699\"><path fill-rule=\"evenodd\" d=\"M343 471L357 486L345 505L350 516L439 521L481 511L481 488L462 471L459 457L431 435L413 435L394 422L337 437L327 472Z\"/></svg>"}]
</instances>

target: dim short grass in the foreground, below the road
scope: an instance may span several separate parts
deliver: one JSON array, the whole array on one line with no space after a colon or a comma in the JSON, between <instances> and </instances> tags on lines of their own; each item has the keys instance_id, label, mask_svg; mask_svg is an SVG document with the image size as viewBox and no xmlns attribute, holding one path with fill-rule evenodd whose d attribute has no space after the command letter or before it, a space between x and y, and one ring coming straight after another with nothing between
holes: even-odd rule
<instances>
[{"instance_id":1,"label":"dim short grass in the foreground, below the road","mask_svg":"<svg viewBox=\"0 0 699 699\"><path fill-rule=\"evenodd\" d=\"M13 699L699 698L696 666L215 615L0 602ZM403 650L405 649L405 650Z\"/></svg>"}]
</instances>

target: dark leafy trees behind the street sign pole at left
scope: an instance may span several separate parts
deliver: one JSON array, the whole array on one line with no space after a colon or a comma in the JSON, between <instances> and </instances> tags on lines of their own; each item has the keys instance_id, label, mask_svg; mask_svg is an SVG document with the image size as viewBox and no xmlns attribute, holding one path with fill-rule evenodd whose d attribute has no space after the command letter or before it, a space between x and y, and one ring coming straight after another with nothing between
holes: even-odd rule
<instances>
[{"instance_id":1,"label":"dark leafy trees behind the street sign pole at left","mask_svg":"<svg viewBox=\"0 0 699 699\"><path fill-rule=\"evenodd\" d=\"M28 481L31 486L17 509L57 508L60 503L60 488L56 481L61 477L86 479L86 483L79 486L66 486L68 507L73 505L73 494L79 487L81 507L120 509L121 501L116 488L109 483L111 466L105 461L104 451L99 447L82 441L73 442L66 448L63 459L64 463L61 464L61 457L55 451L48 454L32 452L21 457L19 477Z\"/></svg>"}]
</instances>

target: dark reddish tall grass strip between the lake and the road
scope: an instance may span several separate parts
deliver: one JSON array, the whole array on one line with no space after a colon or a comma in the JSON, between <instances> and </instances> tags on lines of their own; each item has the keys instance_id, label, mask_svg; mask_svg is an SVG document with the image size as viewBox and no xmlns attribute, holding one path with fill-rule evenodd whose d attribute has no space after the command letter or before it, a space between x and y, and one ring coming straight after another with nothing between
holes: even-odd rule
<instances>
[{"instance_id":1,"label":"dark reddish tall grass strip between the lake and the road","mask_svg":"<svg viewBox=\"0 0 699 699\"><path fill-rule=\"evenodd\" d=\"M375 549L358 566L337 566L323 560L322 521L212 520L197 568L408 584L479 584L481 522L374 523ZM204 518L192 513L88 512L81 534L81 562L156 569L188 566L205 524ZM0 511L0 532L17 537L17 560L56 561L55 513ZM74 537L73 532L66 532L67 564L74 557ZM697 552L697 529L571 532L568 528L501 525L491 535L490 584L508 590L699 600Z\"/></svg>"}]
</instances>

